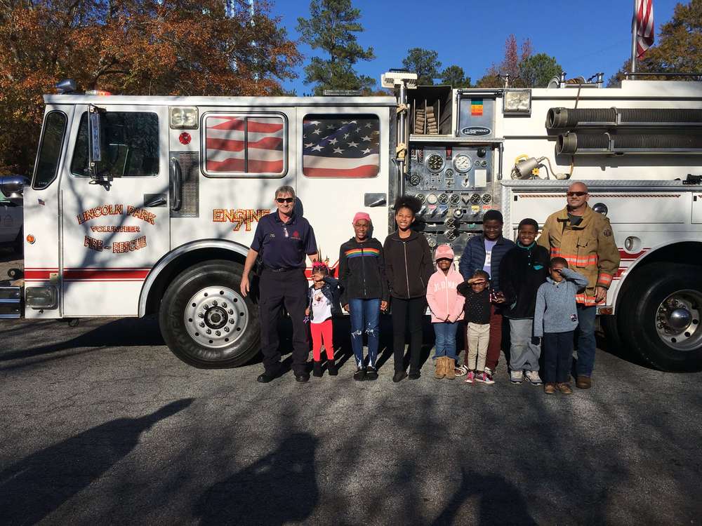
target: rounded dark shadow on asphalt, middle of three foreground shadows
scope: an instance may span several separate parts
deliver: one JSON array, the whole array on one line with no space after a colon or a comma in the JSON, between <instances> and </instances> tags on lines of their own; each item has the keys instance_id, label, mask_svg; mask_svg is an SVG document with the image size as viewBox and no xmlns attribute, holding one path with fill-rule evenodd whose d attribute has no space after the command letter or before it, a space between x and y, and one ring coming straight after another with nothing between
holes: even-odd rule
<instances>
[{"instance_id":1,"label":"rounded dark shadow on asphalt, middle of three foreground shadows","mask_svg":"<svg viewBox=\"0 0 702 526\"><path fill-rule=\"evenodd\" d=\"M210 487L194 505L201 525L282 525L310 517L319 500L317 438L286 437L276 450Z\"/></svg>"}]
</instances>

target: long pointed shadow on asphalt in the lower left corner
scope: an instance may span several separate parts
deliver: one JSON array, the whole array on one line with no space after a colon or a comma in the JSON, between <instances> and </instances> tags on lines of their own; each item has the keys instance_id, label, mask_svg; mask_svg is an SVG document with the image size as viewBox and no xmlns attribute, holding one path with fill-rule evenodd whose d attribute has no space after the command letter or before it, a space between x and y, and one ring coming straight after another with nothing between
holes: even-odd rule
<instances>
[{"instance_id":1,"label":"long pointed shadow on asphalt in the lower left corner","mask_svg":"<svg viewBox=\"0 0 702 526\"><path fill-rule=\"evenodd\" d=\"M3 524L34 524L98 480L139 443L141 433L188 407L183 398L140 418L119 418L29 455L0 473Z\"/></svg>"}]
</instances>

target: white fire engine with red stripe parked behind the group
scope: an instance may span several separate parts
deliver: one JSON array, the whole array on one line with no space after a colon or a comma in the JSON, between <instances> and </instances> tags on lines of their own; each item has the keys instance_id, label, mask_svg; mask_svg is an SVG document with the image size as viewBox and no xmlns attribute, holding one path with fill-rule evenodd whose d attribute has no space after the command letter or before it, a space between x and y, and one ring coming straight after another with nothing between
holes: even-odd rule
<instances>
[{"instance_id":1,"label":"white fire engine with red stripe parked behind the group","mask_svg":"<svg viewBox=\"0 0 702 526\"><path fill-rule=\"evenodd\" d=\"M62 83L44 97L24 284L2 289L4 316L157 313L185 362L241 365L259 330L239 280L277 187L296 189L334 264L355 212L381 240L395 228L398 194L422 201L432 247L460 254L485 210L502 210L514 238L581 180L621 252L598 307L608 341L663 369L702 365L701 83L451 89L390 71L383 85L395 96L115 96Z\"/></svg>"}]
</instances>

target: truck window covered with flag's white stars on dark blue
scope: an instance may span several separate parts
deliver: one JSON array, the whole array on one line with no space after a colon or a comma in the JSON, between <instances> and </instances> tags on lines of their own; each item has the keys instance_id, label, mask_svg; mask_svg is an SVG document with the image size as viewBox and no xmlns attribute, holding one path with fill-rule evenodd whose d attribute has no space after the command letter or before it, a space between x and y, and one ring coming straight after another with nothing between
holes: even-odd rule
<instances>
[{"instance_id":1,"label":"truck window covered with flag's white stars on dark blue","mask_svg":"<svg viewBox=\"0 0 702 526\"><path fill-rule=\"evenodd\" d=\"M377 117L316 116L303 121L307 177L375 177L380 166Z\"/></svg>"}]
</instances>

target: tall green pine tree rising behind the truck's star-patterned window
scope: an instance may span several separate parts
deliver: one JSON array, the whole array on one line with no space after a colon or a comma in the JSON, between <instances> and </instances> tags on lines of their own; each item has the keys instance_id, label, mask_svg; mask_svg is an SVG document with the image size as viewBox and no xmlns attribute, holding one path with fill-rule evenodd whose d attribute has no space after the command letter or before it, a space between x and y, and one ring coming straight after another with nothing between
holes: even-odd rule
<instances>
[{"instance_id":1,"label":"tall green pine tree rising behind the truck's star-patterned window","mask_svg":"<svg viewBox=\"0 0 702 526\"><path fill-rule=\"evenodd\" d=\"M356 33L363 31L358 22L361 12L351 0L312 0L310 18L298 18L301 40L312 49L321 49L329 58L313 57L305 66L305 84L314 84L314 95L324 90L367 90L376 81L359 75L354 65L359 60L373 60L373 48L363 48Z\"/></svg>"}]
</instances>

